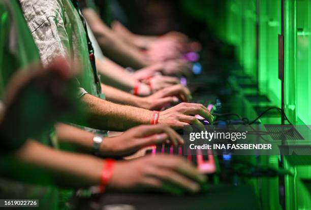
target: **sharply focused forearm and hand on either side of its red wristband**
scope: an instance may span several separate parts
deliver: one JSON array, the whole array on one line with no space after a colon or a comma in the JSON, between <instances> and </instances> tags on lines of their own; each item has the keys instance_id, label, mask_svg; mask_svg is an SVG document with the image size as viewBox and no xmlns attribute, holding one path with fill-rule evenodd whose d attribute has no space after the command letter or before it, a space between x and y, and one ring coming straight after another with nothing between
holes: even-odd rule
<instances>
[{"instance_id":1,"label":"sharply focused forearm and hand on either side of its red wristband","mask_svg":"<svg viewBox=\"0 0 311 210\"><path fill-rule=\"evenodd\" d=\"M83 95L81 102L86 109L80 117L83 119L86 117L87 122L77 123L96 129L124 131L137 125L149 124L152 117L149 110L115 104L89 94ZM210 123L213 122L213 116L202 104L179 103L160 112L158 123L176 129L182 129L184 125L189 124L202 127L203 124L194 117L195 115L202 116Z\"/></svg>"}]
</instances>

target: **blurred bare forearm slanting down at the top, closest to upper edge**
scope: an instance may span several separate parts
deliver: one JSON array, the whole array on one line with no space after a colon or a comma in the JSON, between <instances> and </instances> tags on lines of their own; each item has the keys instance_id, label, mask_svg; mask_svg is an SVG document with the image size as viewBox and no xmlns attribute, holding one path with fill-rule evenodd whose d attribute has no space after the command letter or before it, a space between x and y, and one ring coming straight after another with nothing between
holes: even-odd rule
<instances>
[{"instance_id":1,"label":"blurred bare forearm slanting down at the top, closest to upper edge","mask_svg":"<svg viewBox=\"0 0 311 210\"><path fill-rule=\"evenodd\" d=\"M133 68L141 68L149 64L143 53L118 39L117 35L102 22L95 11L86 8L82 12L107 57L123 66Z\"/></svg>"}]
</instances>

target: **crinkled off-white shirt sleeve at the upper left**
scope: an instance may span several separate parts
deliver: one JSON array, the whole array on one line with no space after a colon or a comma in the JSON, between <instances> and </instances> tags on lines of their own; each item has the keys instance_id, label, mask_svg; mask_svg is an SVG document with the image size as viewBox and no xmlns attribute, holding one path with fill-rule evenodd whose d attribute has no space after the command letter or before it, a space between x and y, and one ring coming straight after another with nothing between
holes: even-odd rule
<instances>
[{"instance_id":1,"label":"crinkled off-white shirt sleeve at the upper left","mask_svg":"<svg viewBox=\"0 0 311 210\"><path fill-rule=\"evenodd\" d=\"M71 60L72 47L65 28L65 11L60 1L47 1L42 5L40 0L20 0L24 17L39 49L41 62L47 66L56 57ZM77 89L80 98L87 91Z\"/></svg>"}]
</instances>

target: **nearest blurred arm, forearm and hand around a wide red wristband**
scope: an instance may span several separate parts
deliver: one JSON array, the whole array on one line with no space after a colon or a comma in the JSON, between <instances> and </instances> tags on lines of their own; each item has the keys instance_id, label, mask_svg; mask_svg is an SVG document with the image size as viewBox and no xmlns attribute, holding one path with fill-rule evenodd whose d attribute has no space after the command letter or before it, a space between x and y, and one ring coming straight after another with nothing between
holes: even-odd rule
<instances>
[{"instance_id":1,"label":"nearest blurred arm, forearm and hand around a wide red wristband","mask_svg":"<svg viewBox=\"0 0 311 210\"><path fill-rule=\"evenodd\" d=\"M3 164L7 161L12 164ZM0 167L4 177L33 184L55 183L60 187L98 186L105 164L102 159L57 151L36 141L28 141L7 161L0 162L4 166ZM205 180L203 174L180 157L146 156L131 161L116 161L107 190L158 189L183 194L185 191L198 192ZM168 183L174 188L164 187Z\"/></svg>"}]
</instances>

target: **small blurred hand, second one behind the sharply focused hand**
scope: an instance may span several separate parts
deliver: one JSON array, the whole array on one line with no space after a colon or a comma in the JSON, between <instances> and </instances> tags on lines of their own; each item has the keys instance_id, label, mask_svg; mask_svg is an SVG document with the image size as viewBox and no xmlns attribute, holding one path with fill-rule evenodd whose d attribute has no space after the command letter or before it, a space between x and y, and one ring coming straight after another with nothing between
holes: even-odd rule
<instances>
[{"instance_id":1,"label":"small blurred hand, second one behind the sharply focused hand","mask_svg":"<svg viewBox=\"0 0 311 210\"><path fill-rule=\"evenodd\" d=\"M149 80L143 80L142 82L147 84L150 83L152 92L157 92L163 88L178 84L179 80L176 77L156 75Z\"/></svg>"}]
</instances>

